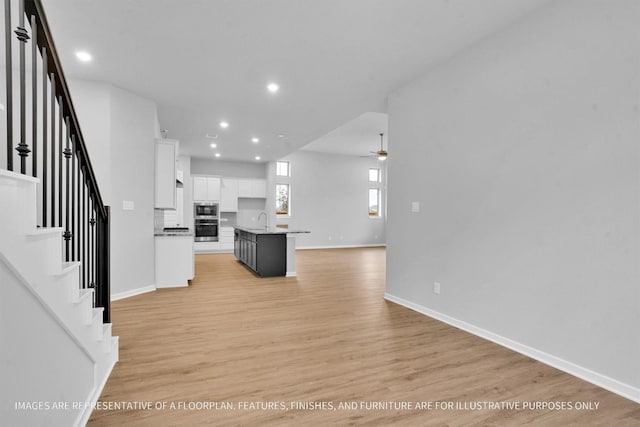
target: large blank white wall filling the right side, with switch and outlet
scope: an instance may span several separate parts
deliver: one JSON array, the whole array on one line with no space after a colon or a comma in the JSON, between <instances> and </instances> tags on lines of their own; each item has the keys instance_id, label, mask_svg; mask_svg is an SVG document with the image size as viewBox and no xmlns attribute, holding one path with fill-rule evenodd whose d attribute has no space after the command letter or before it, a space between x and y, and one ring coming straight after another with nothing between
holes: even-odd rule
<instances>
[{"instance_id":1,"label":"large blank white wall filling the right side, with switch and outlet","mask_svg":"<svg viewBox=\"0 0 640 427\"><path fill-rule=\"evenodd\" d=\"M393 93L387 237L389 294L637 399L639 8L550 3Z\"/></svg>"}]
</instances>

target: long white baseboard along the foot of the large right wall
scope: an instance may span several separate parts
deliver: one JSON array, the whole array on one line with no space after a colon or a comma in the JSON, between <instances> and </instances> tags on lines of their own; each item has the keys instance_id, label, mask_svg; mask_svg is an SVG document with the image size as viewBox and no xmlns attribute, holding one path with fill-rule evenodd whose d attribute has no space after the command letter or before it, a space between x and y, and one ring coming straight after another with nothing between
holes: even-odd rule
<instances>
[{"instance_id":1,"label":"long white baseboard along the foot of the large right wall","mask_svg":"<svg viewBox=\"0 0 640 427\"><path fill-rule=\"evenodd\" d=\"M446 314L439 313L437 311L431 310L430 308L415 304L411 301L407 301L403 298L396 297L389 293L385 292L384 299L402 305L420 314L424 314L425 316L440 320L441 322L447 323L458 329L462 329L463 331L469 332L470 334L492 341L517 353L524 354L525 356L528 356L546 365L552 366L556 369L590 382L591 384L595 384L598 387L609 390L612 393L616 393L624 398L640 403L640 388L633 387L629 384L625 384L613 378L609 378L606 375L594 372L590 369L576 365L575 363L561 359L552 354L545 353L544 351L537 350L535 348L521 344L517 341L513 341L509 338L505 338L501 335L474 326L470 323L447 316Z\"/></svg>"}]
</instances>

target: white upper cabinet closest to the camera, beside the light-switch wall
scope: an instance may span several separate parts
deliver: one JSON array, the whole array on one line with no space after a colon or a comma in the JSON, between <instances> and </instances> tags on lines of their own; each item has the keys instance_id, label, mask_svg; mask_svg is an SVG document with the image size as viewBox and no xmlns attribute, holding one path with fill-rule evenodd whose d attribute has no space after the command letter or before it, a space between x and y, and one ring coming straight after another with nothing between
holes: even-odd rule
<instances>
[{"instance_id":1,"label":"white upper cabinet closest to the camera, beside the light-switch wall","mask_svg":"<svg viewBox=\"0 0 640 427\"><path fill-rule=\"evenodd\" d=\"M158 209L176 208L176 158L178 141L156 140L155 201Z\"/></svg>"}]
</instances>

